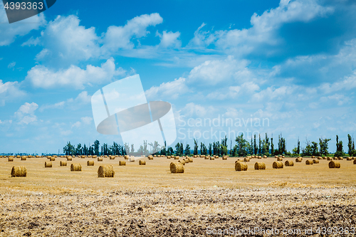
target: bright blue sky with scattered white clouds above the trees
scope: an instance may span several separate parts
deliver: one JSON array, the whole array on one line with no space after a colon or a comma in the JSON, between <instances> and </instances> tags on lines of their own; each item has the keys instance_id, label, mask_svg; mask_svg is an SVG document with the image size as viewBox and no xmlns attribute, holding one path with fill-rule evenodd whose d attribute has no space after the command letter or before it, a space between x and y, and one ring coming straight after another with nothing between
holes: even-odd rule
<instances>
[{"instance_id":1,"label":"bright blue sky with scattered white clouds above the trees","mask_svg":"<svg viewBox=\"0 0 356 237\"><path fill-rule=\"evenodd\" d=\"M0 153L120 142L96 132L90 98L136 73L148 100L172 104L176 142L192 146L189 131L205 143L254 131L275 146L282 133L288 150L298 137L302 147L331 138L330 152L339 135L346 150L356 130L355 10L327 0L58 0L9 24L1 5ZM199 123L219 117L234 125Z\"/></svg>"}]
</instances>

